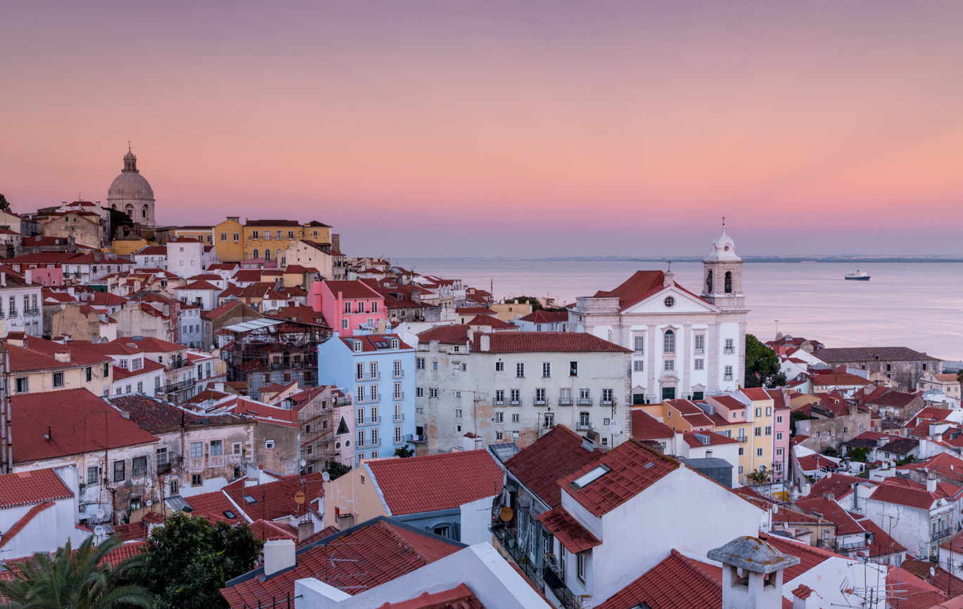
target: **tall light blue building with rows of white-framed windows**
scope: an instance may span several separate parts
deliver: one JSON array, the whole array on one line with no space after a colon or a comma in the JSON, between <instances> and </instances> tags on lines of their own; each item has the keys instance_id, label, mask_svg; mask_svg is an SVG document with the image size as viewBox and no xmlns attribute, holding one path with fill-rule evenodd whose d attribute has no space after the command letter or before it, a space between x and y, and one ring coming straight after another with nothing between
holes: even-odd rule
<instances>
[{"instance_id":1,"label":"tall light blue building with rows of white-framed windows","mask_svg":"<svg viewBox=\"0 0 963 609\"><path fill-rule=\"evenodd\" d=\"M335 332L318 345L318 384L351 393L355 464L414 448L415 349L397 334Z\"/></svg>"}]
</instances>

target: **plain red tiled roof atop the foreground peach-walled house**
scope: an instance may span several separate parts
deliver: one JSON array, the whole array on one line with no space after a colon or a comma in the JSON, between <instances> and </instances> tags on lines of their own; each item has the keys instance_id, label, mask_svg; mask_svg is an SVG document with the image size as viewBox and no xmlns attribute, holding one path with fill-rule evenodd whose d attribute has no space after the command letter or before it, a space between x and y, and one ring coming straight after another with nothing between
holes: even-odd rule
<instances>
[{"instance_id":1,"label":"plain red tiled roof atop the foreground peach-walled house","mask_svg":"<svg viewBox=\"0 0 963 609\"><path fill-rule=\"evenodd\" d=\"M392 516L456 508L502 492L502 469L487 450L378 459L366 466Z\"/></svg>"}]
</instances>

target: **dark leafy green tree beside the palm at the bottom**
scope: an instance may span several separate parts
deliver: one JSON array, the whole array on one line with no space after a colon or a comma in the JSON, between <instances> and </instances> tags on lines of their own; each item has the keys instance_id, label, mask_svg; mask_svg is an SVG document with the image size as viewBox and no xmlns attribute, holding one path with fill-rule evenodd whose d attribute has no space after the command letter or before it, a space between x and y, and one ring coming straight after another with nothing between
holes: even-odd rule
<instances>
[{"instance_id":1,"label":"dark leafy green tree beside the palm at the bottom","mask_svg":"<svg viewBox=\"0 0 963 609\"><path fill-rule=\"evenodd\" d=\"M157 596L157 609L226 607L218 590L254 568L261 546L247 524L177 514L151 533L137 577Z\"/></svg>"}]
</instances>

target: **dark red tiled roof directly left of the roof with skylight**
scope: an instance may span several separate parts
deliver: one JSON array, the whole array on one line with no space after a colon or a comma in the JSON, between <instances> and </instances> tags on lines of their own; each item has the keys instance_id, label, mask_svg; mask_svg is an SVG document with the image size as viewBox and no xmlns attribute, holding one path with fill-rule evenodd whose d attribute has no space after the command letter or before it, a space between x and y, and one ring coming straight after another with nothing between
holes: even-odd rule
<instances>
[{"instance_id":1,"label":"dark red tiled roof directly left of the roof with skylight","mask_svg":"<svg viewBox=\"0 0 963 609\"><path fill-rule=\"evenodd\" d=\"M603 454L601 448L586 449L585 442L568 427L556 425L508 459L505 467L546 505L558 507L561 489L557 481Z\"/></svg>"}]
</instances>

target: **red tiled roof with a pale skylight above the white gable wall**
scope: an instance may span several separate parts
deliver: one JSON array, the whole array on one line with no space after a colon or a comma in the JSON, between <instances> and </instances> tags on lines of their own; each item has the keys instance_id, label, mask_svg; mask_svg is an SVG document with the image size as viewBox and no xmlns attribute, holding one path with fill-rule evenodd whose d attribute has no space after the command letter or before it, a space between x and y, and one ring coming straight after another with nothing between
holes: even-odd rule
<instances>
[{"instance_id":1,"label":"red tiled roof with a pale skylight above the white gable wall","mask_svg":"<svg viewBox=\"0 0 963 609\"><path fill-rule=\"evenodd\" d=\"M609 469L581 489L574 481L592 469ZM632 497L645 491L666 474L679 468L679 462L660 454L635 440L619 444L559 481L562 490L571 495L595 516L611 512Z\"/></svg>"}]
</instances>

